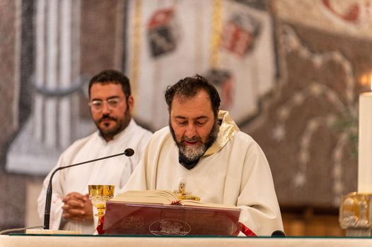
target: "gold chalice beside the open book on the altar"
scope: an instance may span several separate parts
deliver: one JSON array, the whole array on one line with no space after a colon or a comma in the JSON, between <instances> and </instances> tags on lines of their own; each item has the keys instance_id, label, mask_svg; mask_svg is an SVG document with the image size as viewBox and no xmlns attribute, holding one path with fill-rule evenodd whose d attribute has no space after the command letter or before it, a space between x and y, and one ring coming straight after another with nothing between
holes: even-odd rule
<instances>
[{"instance_id":1,"label":"gold chalice beside the open book on the altar","mask_svg":"<svg viewBox=\"0 0 372 247\"><path fill-rule=\"evenodd\" d=\"M114 196L115 186L110 185L88 185L89 200L91 200L94 207L97 207L98 224L100 225L100 219L105 215L106 201L110 200Z\"/></svg>"}]
</instances>

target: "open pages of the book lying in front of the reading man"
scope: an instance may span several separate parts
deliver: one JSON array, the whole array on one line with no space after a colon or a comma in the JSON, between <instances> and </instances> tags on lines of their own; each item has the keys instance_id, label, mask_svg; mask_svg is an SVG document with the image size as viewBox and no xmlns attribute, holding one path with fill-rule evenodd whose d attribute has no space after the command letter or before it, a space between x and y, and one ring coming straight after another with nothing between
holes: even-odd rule
<instances>
[{"instance_id":1,"label":"open pages of the book lying in front of the reading man","mask_svg":"<svg viewBox=\"0 0 372 247\"><path fill-rule=\"evenodd\" d=\"M161 204L161 205L189 205L197 207L220 207L220 208L237 208L233 205L223 205L217 203L202 203L197 200L180 199L179 193L164 190L150 191L127 191L121 193L112 202L122 203L142 203L142 204Z\"/></svg>"}]
</instances>

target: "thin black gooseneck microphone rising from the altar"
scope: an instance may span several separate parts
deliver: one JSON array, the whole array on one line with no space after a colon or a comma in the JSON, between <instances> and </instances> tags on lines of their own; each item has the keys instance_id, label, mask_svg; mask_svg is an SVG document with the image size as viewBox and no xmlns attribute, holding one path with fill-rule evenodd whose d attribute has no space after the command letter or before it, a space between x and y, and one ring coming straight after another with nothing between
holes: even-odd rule
<instances>
[{"instance_id":1,"label":"thin black gooseneck microphone rising from the altar","mask_svg":"<svg viewBox=\"0 0 372 247\"><path fill-rule=\"evenodd\" d=\"M116 155L110 155L110 156L101 157L101 158L98 158L98 159L91 159L91 160L88 160L86 162L70 164L68 166L58 167L57 169L55 169L52 172L52 174L50 175L50 179L49 179L49 183L48 183L48 187L47 187L47 195L46 195L46 198L45 198L45 211L44 211L44 229L49 229L50 206L52 205L52 179L53 179L54 174L57 171L65 169L65 168L69 168L69 167L76 167L76 166L79 166L80 164L95 162L95 161L98 161L98 160L101 160L101 159L109 159L109 158L120 156L120 155L125 155L127 157L131 157L132 155L134 155L134 150L132 150L132 148L127 148L126 150L124 150L124 152L121 152L121 153L116 154Z\"/></svg>"}]
</instances>

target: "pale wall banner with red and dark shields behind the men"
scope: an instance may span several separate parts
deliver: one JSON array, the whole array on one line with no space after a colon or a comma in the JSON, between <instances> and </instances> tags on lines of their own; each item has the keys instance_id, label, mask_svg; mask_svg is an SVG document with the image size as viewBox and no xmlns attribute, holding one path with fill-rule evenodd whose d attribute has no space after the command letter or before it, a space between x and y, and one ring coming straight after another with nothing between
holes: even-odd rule
<instances>
[{"instance_id":1,"label":"pale wall banner with red and dark shields behind the men","mask_svg":"<svg viewBox=\"0 0 372 247\"><path fill-rule=\"evenodd\" d=\"M166 126L165 88L196 73L215 78L217 71L228 71L228 80L219 79L228 83L218 88L222 106L233 118L242 123L257 113L258 100L274 85L272 20L267 12L227 0L141 1L141 8L136 2L129 1L128 7L127 52L132 62L125 72L136 71L132 81L139 121L153 130Z\"/></svg>"}]
</instances>

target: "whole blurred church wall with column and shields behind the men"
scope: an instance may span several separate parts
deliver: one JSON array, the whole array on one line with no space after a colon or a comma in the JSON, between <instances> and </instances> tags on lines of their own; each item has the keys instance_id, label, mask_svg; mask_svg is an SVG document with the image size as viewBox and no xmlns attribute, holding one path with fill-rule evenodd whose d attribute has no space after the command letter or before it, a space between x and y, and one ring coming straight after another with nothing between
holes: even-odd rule
<instances>
[{"instance_id":1,"label":"whole blurred church wall with column and shields behind the men","mask_svg":"<svg viewBox=\"0 0 372 247\"><path fill-rule=\"evenodd\" d=\"M372 0L0 0L0 229L42 224L45 174L95 131L88 80L115 68L151 131L168 85L207 76L267 155L286 234L343 236L371 30Z\"/></svg>"}]
</instances>

